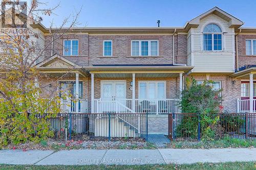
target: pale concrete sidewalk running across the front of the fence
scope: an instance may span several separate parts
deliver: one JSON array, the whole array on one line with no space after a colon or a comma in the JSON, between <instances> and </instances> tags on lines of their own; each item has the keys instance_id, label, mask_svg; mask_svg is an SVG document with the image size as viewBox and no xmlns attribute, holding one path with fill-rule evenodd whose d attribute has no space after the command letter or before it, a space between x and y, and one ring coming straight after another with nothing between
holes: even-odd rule
<instances>
[{"instance_id":1,"label":"pale concrete sidewalk running across the front of the fence","mask_svg":"<svg viewBox=\"0 0 256 170\"><path fill-rule=\"evenodd\" d=\"M256 161L256 149L0 150L0 164L88 165Z\"/></svg>"}]
</instances>

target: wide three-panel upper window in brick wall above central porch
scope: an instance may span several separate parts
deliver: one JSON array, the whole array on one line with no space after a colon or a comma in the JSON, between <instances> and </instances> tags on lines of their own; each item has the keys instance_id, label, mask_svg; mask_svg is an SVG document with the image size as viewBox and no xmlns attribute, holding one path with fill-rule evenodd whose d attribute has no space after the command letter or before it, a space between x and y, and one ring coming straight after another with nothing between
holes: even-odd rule
<instances>
[{"instance_id":1,"label":"wide three-panel upper window in brick wall above central porch","mask_svg":"<svg viewBox=\"0 0 256 170\"><path fill-rule=\"evenodd\" d=\"M158 56L158 40L132 40L132 56Z\"/></svg>"}]
</instances>

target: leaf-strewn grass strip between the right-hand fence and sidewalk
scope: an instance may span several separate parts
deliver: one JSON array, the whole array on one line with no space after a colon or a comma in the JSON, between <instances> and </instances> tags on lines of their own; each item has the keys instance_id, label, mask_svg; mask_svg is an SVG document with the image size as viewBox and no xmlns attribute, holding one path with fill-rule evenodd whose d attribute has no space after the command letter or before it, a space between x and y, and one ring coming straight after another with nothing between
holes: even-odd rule
<instances>
[{"instance_id":1,"label":"leaf-strewn grass strip between the right-hand fence and sidewalk","mask_svg":"<svg viewBox=\"0 0 256 170\"><path fill-rule=\"evenodd\" d=\"M249 148L256 147L256 139L237 139L224 137L219 140L212 141L200 141L200 142L192 142L192 141L172 141L168 144L168 148L177 148L177 149L185 149L185 148L193 148L193 149L210 149L210 148Z\"/></svg>"}]
</instances>

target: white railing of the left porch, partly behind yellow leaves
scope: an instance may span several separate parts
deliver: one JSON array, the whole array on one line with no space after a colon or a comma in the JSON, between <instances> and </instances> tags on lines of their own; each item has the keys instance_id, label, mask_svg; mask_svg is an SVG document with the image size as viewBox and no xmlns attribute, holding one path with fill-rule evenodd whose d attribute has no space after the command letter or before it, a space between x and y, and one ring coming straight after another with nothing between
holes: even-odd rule
<instances>
[{"instance_id":1,"label":"white railing of the left porch, partly behind yellow leaves","mask_svg":"<svg viewBox=\"0 0 256 170\"><path fill-rule=\"evenodd\" d=\"M78 107L76 107L78 105ZM78 110L76 110L78 108ZM88 101L85 99L78 99L77 102L71 100L60 100L60 109L62 113L87 113Z\"/></svg>"}]
</instances>

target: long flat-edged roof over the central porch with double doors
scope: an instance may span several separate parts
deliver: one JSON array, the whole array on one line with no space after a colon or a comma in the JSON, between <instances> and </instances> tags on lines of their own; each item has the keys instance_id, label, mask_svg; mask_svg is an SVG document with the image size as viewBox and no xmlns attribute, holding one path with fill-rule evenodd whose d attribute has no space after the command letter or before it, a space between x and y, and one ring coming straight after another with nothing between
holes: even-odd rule
<instances>
[{"instance_id":1,"label":"long flat-edged roof over the central porch with double doors","mask_svg":"<svg viewBox=\"0 0 256 170\"><path fill-rule=\"evenodd\" d=\"M96 78L167 78L186 74L193 66L173 64L98 64L87 67Z\"/></svg>"}]
</instances>

